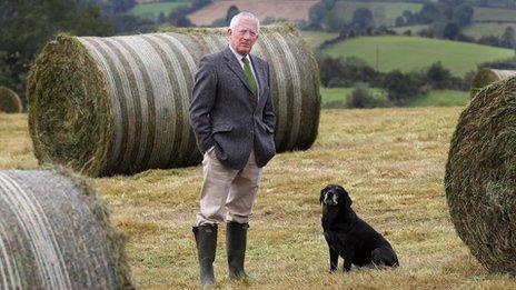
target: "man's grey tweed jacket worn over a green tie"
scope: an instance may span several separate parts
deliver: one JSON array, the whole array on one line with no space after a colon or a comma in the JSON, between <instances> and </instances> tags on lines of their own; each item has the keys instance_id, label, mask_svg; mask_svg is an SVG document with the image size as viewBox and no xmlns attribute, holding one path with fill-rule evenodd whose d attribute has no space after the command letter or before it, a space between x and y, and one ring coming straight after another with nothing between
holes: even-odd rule
<instances>
[{"instance_id":1,"label":"man's grey tweed jacket worn over a green tie","mask_svg":"<svg viewBox=\"0 0 516 290\"><path fill-rule=\"evenodd\" d=\"M228 47L200 60L189 110L199 150L204 153L215 146L217 159L237 170L244 169L251 150L258 167L276 153L269 66L258 57L249 59L259 87L257 103Z\"/></svg>"}]
</instances>

